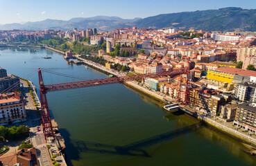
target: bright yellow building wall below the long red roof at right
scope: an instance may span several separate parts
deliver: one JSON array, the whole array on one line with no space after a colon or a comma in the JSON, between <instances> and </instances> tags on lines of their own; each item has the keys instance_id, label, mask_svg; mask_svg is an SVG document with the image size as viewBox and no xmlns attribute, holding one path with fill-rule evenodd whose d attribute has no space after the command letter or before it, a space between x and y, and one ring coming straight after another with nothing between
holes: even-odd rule
<instances>
[{"instance_id":1,"label":"bright yellow building wall below the long red roof at right","mask_svg":"<svg viewBox=\"0 0 256 166\"><path fill-rule=\"evenodd\" d=\"M228 84L233 84L234 75L228 73L222 73L219 71L207 71L207 78L219 82L228 82Z\"/></svg>"}]
</instances>

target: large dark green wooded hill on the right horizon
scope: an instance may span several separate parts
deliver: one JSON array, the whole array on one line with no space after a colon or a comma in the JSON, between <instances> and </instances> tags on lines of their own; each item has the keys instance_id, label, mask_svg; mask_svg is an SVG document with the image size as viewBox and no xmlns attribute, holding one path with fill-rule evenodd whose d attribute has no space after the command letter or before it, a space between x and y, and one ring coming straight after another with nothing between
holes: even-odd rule
<instances>
[{"instance_id":1,"label":"large dark green wooded hill on the right horizon","mask_svg":"<svg viewBox=\"0 0 256 166\"><path fill-rule=\"evenodd\" d=\"M139 28L170 26L189 30L248 30L256 31L256 10L242 8L220 8L196 12L178 12L140 19L133 23Z\"/></svg>"}]
</instances>

